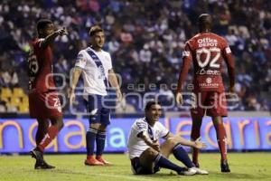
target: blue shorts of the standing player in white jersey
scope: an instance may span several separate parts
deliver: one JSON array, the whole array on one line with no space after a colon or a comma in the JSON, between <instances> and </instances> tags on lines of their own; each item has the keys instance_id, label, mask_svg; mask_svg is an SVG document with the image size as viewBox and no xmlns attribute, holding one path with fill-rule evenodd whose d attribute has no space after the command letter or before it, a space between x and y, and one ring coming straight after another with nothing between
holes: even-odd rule
<instances>
[{"instance_id":1,"label":"blue shorts of the standing player in white jersey","mask_svg":"<svg viewBox=\"0 0 271 181\"><path fill-rule=\"evenodd\" d=\"M106 108L104 101L106 98L107 96L89 94L88 100L85 100L89 124L100 123L105 127L110 124L110 110Z\"/></svg>"}]
</instances>

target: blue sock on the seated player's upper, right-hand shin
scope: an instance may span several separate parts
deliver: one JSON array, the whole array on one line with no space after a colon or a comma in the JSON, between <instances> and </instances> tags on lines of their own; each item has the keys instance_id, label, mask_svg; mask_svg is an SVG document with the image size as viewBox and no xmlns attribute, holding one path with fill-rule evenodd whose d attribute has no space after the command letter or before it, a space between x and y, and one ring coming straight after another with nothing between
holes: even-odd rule
<instances>
[{"instance_id":1,"label":"blue sock on the seated player's upper, right-hand shin","mask_svg":"<svg viewBox=\"0 0 271 181\"><path fill-rule=\"evenodd\" d=\"M176 159L178 159L179 161L182 161L182 163L186 167L195 167L190 157L188 157L187 152L182 148L181 144L177 144L173 148L173 155Z\"/></svg>"}]
</instances>

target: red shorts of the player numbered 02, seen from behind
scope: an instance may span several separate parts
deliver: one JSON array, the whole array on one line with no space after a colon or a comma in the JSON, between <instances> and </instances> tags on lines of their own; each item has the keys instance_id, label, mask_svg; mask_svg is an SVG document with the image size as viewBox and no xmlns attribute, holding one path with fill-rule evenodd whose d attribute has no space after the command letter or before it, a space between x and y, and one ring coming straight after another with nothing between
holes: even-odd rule
<instances>
[{"instance_id":1,"label":"red shorts of the player numbered 02, seen from behind","mask_svg":"<svg viewBox=\"0 0 271 181\"><path fill-rule=\"evenodd\" d=\"M228 116L225 92L201 91L194 92L195 108L191 109L192 117L226 117Z\"/></svg>"}]
</instances>

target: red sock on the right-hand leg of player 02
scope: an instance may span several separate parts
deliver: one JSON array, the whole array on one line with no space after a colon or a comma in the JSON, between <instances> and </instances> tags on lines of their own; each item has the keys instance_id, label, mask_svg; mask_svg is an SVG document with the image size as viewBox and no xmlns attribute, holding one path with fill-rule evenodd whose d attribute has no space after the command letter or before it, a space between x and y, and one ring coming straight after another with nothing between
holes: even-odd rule
<instances>
[{"instance_id":1,"label":"red sock on the right-hand leg of player 02","mask_svg":"<svg viewBox=\"0 0 271 181\"><path fill-rule=\"evenodd\" d=\"M227 135L223 123L218 124L217 126L215 125L215 129L217 131L217 139L220 147L221 160L225 160L227 159Z\"/></svg>"}]
</instances>

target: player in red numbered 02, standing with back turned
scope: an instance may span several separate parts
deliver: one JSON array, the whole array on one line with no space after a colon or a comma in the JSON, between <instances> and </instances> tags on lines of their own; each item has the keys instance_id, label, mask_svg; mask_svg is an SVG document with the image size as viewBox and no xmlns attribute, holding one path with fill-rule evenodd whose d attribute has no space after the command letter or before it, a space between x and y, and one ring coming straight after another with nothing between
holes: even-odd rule
<instances>
[{"instance_id":1,"label":"player in red numbered 02, standing with back turned","mask_svg":"<svg viewBox=\"0 0 271 181\"><path fill-rule=\"evenodd\" d=\"M221 172L230 172L227 161L227 137L222 117L228 115L224 85L221 77L222 62L225 60L229 72L229 92L234 91L234 62L228 43L215 33L211 33L210 14L199 16L200 33L190 39L182 52L182 70L180 71L176 101L182 104L182 86L193 62L193 95L196 100L192 107L193 140L200 137L201 122L205 115L210 116L217 132L221 154ZM199 166L199 149L193 148L192 161Z\"/></svg>"}]
</instances>

